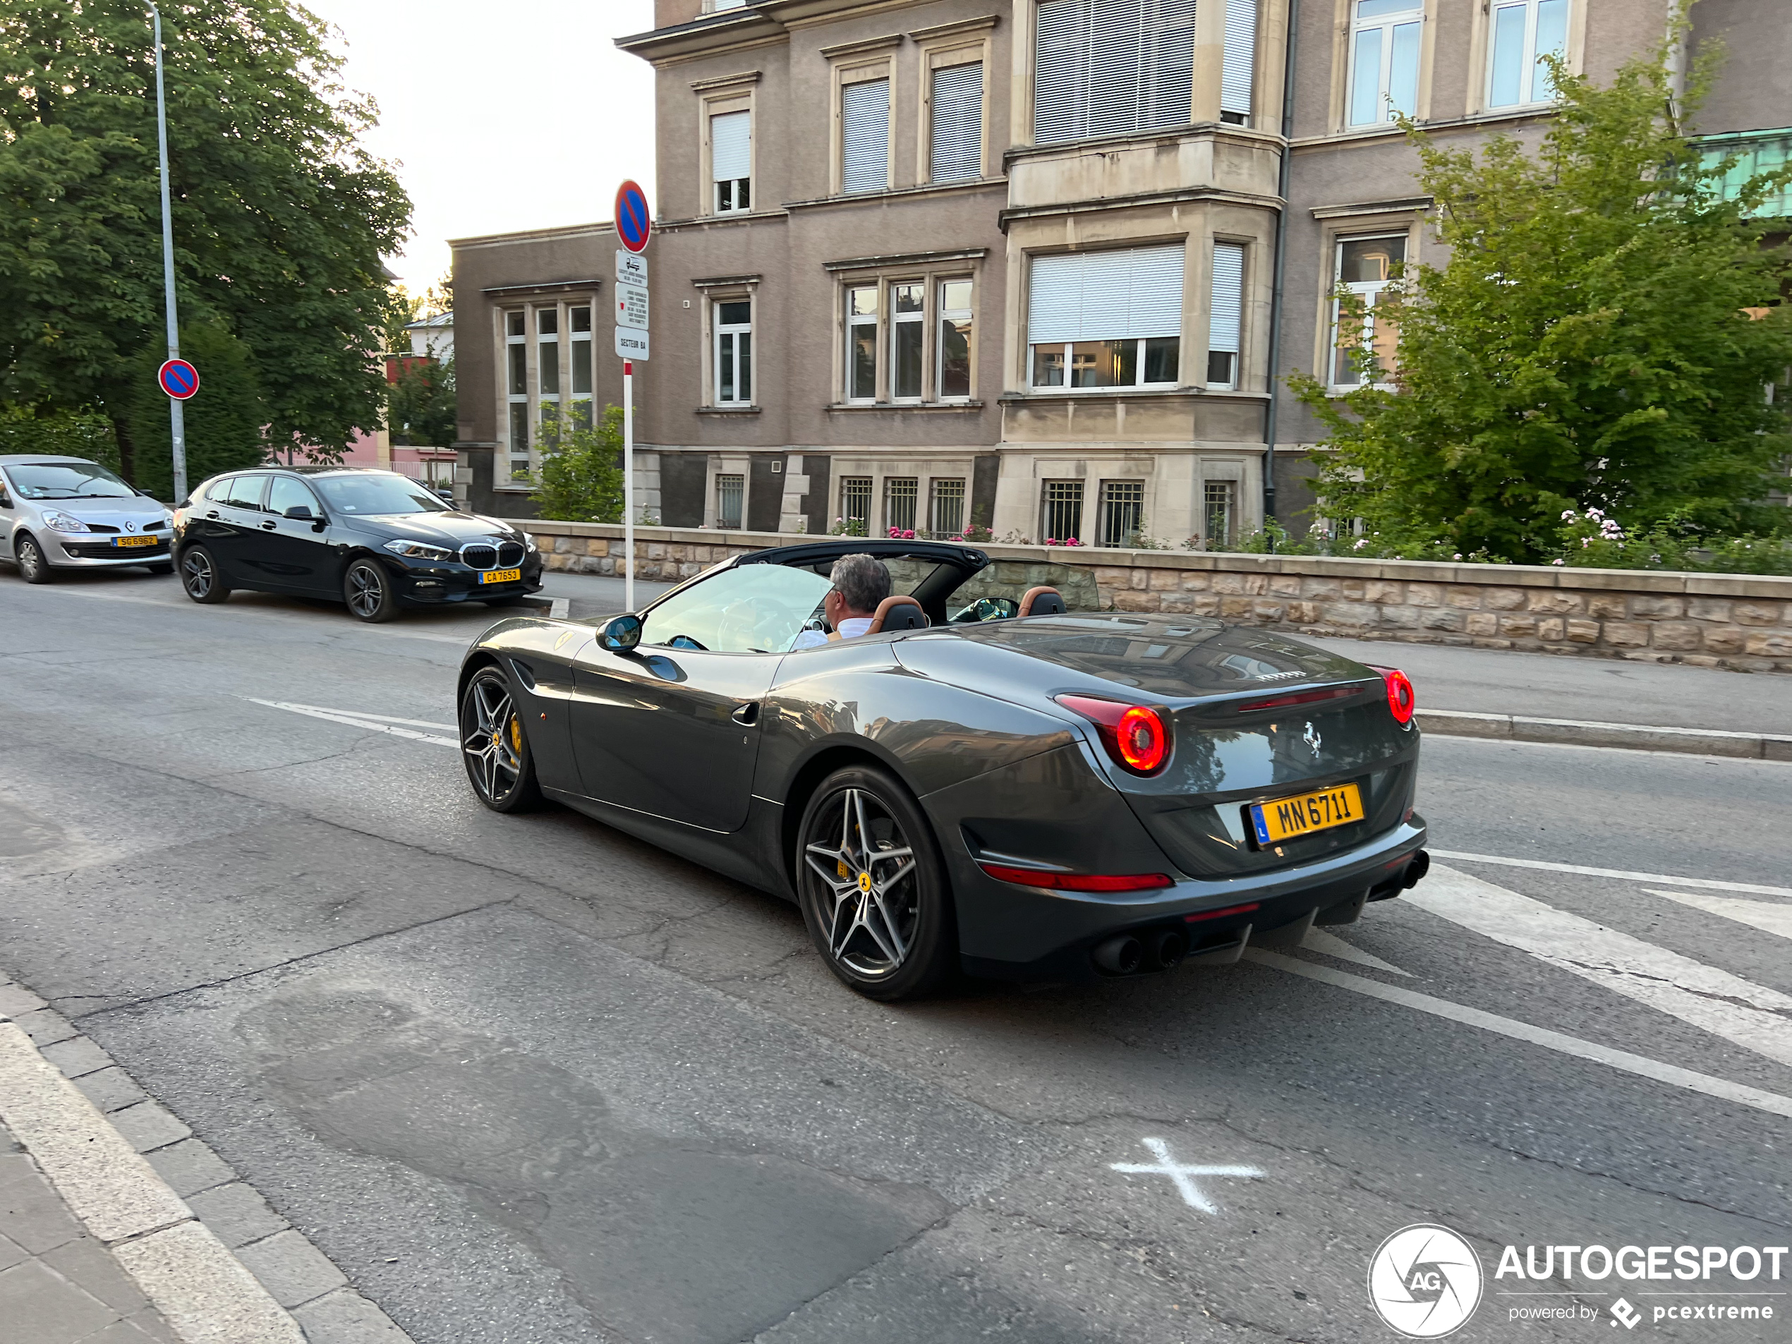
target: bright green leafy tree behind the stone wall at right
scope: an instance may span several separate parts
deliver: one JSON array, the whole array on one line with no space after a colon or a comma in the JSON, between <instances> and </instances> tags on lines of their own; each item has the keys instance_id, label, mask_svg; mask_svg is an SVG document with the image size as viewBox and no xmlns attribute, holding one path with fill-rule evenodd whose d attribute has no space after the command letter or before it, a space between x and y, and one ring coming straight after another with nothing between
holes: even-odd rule
<instances>
[{"instance_id":1,"label":"bright green leafy tree behind the stone wall at right","mask_svg":"<svg viewBox=\"0 0 1792 1344\"><path fill-rule=\"evenodd\" d=\"M1391 380L1333 400L1290 378L1328 428L1324 513L1362 518L1383 554L1518 563L1559 550L1568 509L1785 525L1763 504L1792 448L1763 398L1792 364L1785 253L1749 213L1788 172L1720 199L1731 161L1702 163L1684 129L1715 68L1702 54L1677 104L1667 48L1606 88L1557 63L1534 151L1502 136L1475 159L1407 125L1450 260L1378 306L1400 330ZM1378 373L1367 349L1358 364Z\"/></svg>"}]
</instances>

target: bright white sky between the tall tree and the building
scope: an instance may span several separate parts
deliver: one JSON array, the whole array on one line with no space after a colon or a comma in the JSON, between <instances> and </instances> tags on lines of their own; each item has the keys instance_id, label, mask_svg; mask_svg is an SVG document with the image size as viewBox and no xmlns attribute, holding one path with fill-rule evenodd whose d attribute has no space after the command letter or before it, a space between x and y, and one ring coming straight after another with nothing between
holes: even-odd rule
<instances>
[{"instance_id":1,"label":"bright white sky between the tall tree and the building","mask_svg":"<svg viewBox=\"0 0 1792 1344\"><path fill-rule=\"evenodd\" d=\"M652 199L652 66L613 45L654 25L652 0L299 2L380 104L366 143L416 206L387 258L410 294L448 271L448 238L609 219L624 177Z\"/></svg>"}]
</instances>

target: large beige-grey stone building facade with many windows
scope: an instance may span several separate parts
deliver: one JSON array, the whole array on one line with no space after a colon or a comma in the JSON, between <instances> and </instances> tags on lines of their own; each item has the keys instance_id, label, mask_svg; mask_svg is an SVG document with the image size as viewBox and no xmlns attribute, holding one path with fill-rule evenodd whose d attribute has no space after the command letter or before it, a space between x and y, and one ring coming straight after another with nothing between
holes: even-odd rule
<instances>
[{"instance_id":1,"label":"large beige-grey stone building facade with many windows","mask_svg":"<svg viewBox=\"0 0 1792 1344\"><path fill-rule=\"evenodd\" d=\"M656 22L618 39L656 72L647 514L1125 547L1233 539L1265 502L1301 525L1317 426L1272 389L1348 387L1339 287L1387 348L1374 292L1432 247L1392 111L1536 136L1536 56L1606 77L1661 43L1668 0L658 0ZM1792 5L1699 0L1693 23L1731 52L1702 129L1783 156ZM477 487L516 489L543 409L620 400L613 249L607 224L455 242Z\"/></svg>"}]
</instances>

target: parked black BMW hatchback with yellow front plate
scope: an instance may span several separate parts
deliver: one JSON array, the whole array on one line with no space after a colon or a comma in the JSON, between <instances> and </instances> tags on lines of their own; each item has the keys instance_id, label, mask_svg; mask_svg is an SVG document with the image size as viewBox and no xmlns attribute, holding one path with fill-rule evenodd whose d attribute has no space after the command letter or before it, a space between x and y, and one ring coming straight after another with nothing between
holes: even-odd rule
<instances>
[{"instance_id":1,"label":"parked black BMW hatchback with yellow front plate","mask_svg":"<svg viewBox=\"0 0 1792 1344\"><path fill-rule=\"evenodd\" d=\"M364 468L213 477L174 514L174 563L195 602L258 588L335 599L375 622L403 606L502 604L541 588L527 532Z\"/></svg>"}]
</instances>

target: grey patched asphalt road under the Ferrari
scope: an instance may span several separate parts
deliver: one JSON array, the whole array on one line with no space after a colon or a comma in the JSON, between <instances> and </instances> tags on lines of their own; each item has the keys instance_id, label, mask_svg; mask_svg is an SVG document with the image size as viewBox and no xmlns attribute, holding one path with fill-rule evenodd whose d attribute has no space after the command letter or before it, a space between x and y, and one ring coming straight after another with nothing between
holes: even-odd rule
<instances>
[{"instance_id":1,"label":"grey patched asphalt road under the Ferrari","mask_svg":"<svg viewBox=\"0 0 1792 1344\"><path fill-rule=\"evenodd\" d=\"M1620 1292L1785 1339L1710 1297L1785 1263L1495 1267L1792 1244L1792 765L1434 737L1453 857L1335 943L883 1007L792 907L480 808L486 620L0 572L0 968L419 1344L1391 1340L1366 1274L1416 1222L1486 1267L1459 1339L1607 1340ZM1652 1317L1693 1301L1778 1310Z\"/></svg>"}]
</instances>

